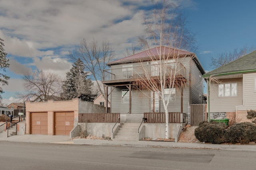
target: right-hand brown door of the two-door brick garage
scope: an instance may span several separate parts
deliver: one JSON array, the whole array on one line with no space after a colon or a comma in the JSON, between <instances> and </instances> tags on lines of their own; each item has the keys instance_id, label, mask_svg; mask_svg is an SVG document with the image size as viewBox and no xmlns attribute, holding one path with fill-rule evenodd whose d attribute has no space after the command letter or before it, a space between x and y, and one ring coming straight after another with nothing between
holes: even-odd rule
<instances>
[{"instance_id":1,"label":"right-hand brown door of the two-door brick garage","mask_svg":"<svg viewBox=\"0 0 256 170\"><path fill-rule=\"evenodd\" d=\"M55 112L54 113L55 135L69 135L74 127L74 112Z\"/></svg>"}]
</instances>

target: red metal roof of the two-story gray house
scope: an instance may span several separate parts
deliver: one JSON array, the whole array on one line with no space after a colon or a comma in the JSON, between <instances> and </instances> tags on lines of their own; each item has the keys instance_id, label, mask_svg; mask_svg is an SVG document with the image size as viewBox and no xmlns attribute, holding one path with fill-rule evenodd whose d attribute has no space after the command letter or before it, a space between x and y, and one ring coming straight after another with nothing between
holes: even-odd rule
<instances>
[{"instance_id":1,"label":"red metal roof of the two-story gray house","mask_svg":"<svg viewBox=\"0 0 256 170\"><path fill-rule=\"evenodd\" d=\"M142 51L140 53L130 55L128 57L124 57L124 58L118 59L116 61L112 61L112 62L108 63L107 65L136 62L136 61L151 59L152 57L157 58L159 56L160 52L161 52L161 56L192 54L191 52L188 52L188 51L162 46L162 47L155 47L152 49L148 49L146 51Z\"/></svg>"}]
</instances>

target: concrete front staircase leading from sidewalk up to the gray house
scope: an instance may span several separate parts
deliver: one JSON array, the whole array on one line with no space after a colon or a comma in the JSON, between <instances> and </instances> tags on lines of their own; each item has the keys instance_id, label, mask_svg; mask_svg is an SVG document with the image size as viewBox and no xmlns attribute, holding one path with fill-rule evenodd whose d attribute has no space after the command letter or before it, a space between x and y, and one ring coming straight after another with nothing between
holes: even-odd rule
<instances>
[{"instance_id":1,"label":"concrete front staircase leading from sidewalk up to the gray house","mask_svg":"<svg viewBox=\"0 0 256 170\"><path fill-rule=\"evenodd\" d=\"M137 141L140 123L122 123L113 141Z\"/></svg>"}]
</instances>

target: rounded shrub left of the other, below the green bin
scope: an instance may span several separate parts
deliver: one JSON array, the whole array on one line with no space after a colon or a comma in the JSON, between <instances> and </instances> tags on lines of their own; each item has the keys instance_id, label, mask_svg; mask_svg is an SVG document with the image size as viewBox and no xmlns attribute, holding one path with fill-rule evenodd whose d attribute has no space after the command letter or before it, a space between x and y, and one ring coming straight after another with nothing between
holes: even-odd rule
<instances>
[{"instance_id":1,"label":"rounded shrub left of the other, below the green bin","mask_svg":"<svg viewBox=\"0 0 256 170\"><path fill-rule=\"evenodd\" d=\"M225 128L222 123L212 124L201 122L195 129L195 136L200 142L224 143Z\"/></svg>"}]
</instances>

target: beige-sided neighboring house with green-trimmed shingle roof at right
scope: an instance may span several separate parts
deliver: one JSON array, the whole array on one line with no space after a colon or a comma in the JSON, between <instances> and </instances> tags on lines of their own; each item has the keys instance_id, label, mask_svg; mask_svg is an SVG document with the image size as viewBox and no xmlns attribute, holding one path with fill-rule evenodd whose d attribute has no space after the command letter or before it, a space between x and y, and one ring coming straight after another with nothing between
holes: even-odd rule
<instances>
[{"instance_id":1,"label":"beige-sided neighboring house with green-trimmed shingle roof at right","mask_svg":"<svg viewBox=\"0 0 256 170\"><path fill-rule=\"evenodd\" d=\"M247 111L256 110L256 51L203 75L208 83L209 119L250 121Z\"/></svg>"}]
</instances>

